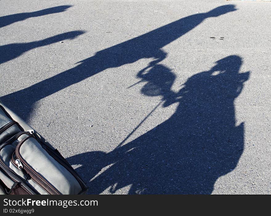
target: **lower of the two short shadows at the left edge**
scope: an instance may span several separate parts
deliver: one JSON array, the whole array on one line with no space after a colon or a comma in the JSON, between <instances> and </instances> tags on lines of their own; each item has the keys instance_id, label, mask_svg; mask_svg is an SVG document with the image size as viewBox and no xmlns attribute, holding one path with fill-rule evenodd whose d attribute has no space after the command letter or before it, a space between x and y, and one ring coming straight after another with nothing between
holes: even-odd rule
<instances>
[{"instance_id":1,"label":"lower of the two short shadows at the left edge","mask_svg":"<svg viewBox=\"0 0 271 216\"><path fill-rule=\"evenodd\" d=\"M74 39L83 34L84 31L71 31L48 37L44 40L29 43L14 43L0 46L0 64L13 60L31 49L57 43L66 39Z\"/></svg>"}]
</instances>

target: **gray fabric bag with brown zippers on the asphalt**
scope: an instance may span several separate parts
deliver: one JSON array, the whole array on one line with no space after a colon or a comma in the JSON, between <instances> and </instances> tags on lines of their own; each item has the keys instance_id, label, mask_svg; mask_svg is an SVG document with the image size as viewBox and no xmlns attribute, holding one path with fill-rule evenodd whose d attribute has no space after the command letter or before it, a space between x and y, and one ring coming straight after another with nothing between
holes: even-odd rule
<instances>
[{"instance_id":1,"label":"gray fabric bag with brown zippers on the asphalt","mask_svg":"<svg viewBox=\"0 0 271 216\"><path fill-rule=\"evenodd\" d=\"M86 194L65 158L0 101L0 194Z\"/></svg>"}]
</instances>

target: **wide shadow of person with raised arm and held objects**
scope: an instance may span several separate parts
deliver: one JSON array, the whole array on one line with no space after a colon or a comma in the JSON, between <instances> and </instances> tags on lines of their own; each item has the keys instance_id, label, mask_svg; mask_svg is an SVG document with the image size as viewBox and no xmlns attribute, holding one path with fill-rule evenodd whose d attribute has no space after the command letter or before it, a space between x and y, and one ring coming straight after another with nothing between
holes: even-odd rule
<instances>
[{"instance_id":1,"label":"wide shadow of person with raised arm and held objects","mask_svg":"<svg viewBox=\"0 0 271 216\"><path fill-rule=\"evenodd\" d=\"M163 106L178 103L162 124L113 151L71 156L71 164L98 194L129 186L129 194L210 194L216 179L231 172L243 152L244 123L236 125L234 100L249 72L241 57L228 56L209 71L190 77L178 93L175 75L163 65L138 74L142 93L161 95ZM171 73L171 74L170 74ZM144 75L143 75L144 74ZM99 171L103 169L103 172ZM90 181L91 180L91 181Z\"/></svg>"}]
</instances>

